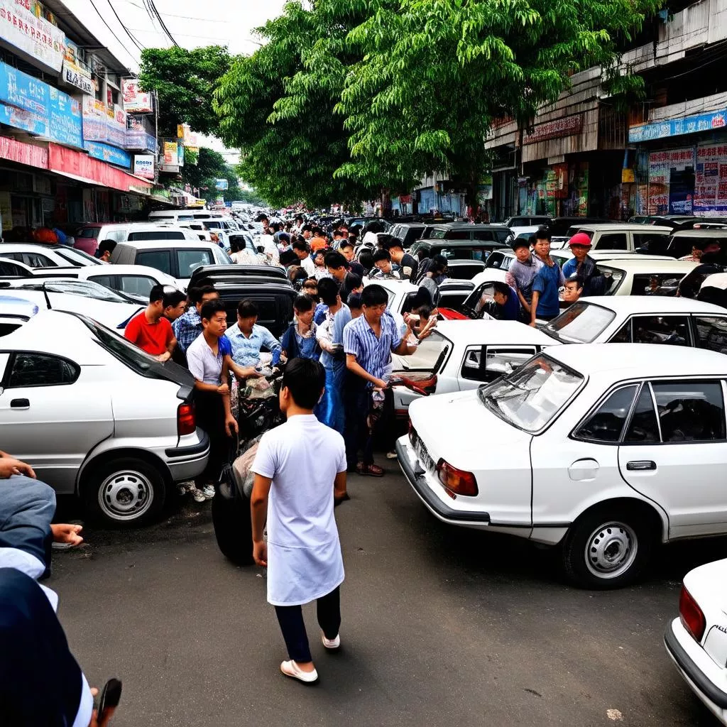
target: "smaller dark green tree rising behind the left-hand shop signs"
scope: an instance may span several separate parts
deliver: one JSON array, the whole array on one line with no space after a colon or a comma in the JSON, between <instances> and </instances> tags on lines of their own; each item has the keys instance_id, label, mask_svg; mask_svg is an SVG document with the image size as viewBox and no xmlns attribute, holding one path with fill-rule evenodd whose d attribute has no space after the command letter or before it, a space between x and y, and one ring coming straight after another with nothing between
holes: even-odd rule
<instances>
[{"instance_id":1,"label":"smaller dark green tree rising behind the left-hand shop signs","mask_svg":"<svg viewBox=\"0 0 727 727\"><path fill-rule=\"evenodd\" d=\"M158 94L161 137L176 137L177 124L184 123L200 134L218 133L212 95L231 62L221 46L142 50L140 86Z\"/></svg>"}]
</instances>

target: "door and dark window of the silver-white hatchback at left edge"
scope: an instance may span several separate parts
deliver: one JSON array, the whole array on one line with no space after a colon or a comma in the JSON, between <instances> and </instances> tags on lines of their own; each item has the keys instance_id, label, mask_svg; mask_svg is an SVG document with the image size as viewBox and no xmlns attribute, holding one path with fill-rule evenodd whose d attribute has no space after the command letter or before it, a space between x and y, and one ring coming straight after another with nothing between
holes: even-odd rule
<instances>
[{"instance_id":1,"label":"door and dark window of the silver-white hatchback at left edge","mask_svg":"<svg viewBox=\"0 0 727 727\"><path fill-rule=\"evenodd\" d=\"M111 393L69 358L0 353L2 448L58 492L73 492L88 451L113 433ZM83 406L80 406L83 403Z\"/></svg>"}]
</instances>

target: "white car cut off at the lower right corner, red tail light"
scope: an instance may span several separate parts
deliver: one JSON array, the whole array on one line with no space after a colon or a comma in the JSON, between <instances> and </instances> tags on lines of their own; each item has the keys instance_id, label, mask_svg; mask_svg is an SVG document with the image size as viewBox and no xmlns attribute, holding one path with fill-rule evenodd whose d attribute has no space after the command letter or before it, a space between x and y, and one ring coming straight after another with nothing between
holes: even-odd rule
<instances>
[{"instance_id":1,"label":"white car cut off at the lower right corner, red tail light","mask_svg":"<svg viewBox=\"0 0 727 727\"><path fill-rule=\"evenodd\" d=\"M691 691L727 725L727 560L686 574L679 617L667 625L667 654Z\"/></svg>"}]
</instances>

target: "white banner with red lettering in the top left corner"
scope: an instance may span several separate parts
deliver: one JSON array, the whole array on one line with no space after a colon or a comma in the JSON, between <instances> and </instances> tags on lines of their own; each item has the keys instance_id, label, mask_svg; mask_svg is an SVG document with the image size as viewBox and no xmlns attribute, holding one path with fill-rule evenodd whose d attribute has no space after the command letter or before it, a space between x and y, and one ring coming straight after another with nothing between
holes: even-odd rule
<instances>
[{"instance_id":1,"label":"white banner with red lettering in the top left corner","mask_svg":"<svg viewBox=\"0 0 727 727\"><path fill-rule=\"evenodd\" d=\"M0 43L20 50L56 73L63 67L65 33L33 15L18 0L0 0Z\"/></svg>"}]
</instances>

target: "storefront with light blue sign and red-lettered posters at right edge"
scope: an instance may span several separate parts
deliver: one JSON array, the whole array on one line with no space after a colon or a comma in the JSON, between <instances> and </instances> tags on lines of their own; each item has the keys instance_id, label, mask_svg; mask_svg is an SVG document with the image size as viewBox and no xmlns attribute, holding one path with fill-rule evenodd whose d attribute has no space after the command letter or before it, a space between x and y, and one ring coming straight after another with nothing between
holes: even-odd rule
<instances>
[{"instance_id":1,"label":"storefront with light blue sign and red-lettered posters at right edge","mask_svg":"<svg viewBox=\"0 0 727 727\"><path fill-rule=\"evenodd\" d=\"M727 110L640 124L636 145L636 214L727 214Z\"/></svg>"}]
</instances>

